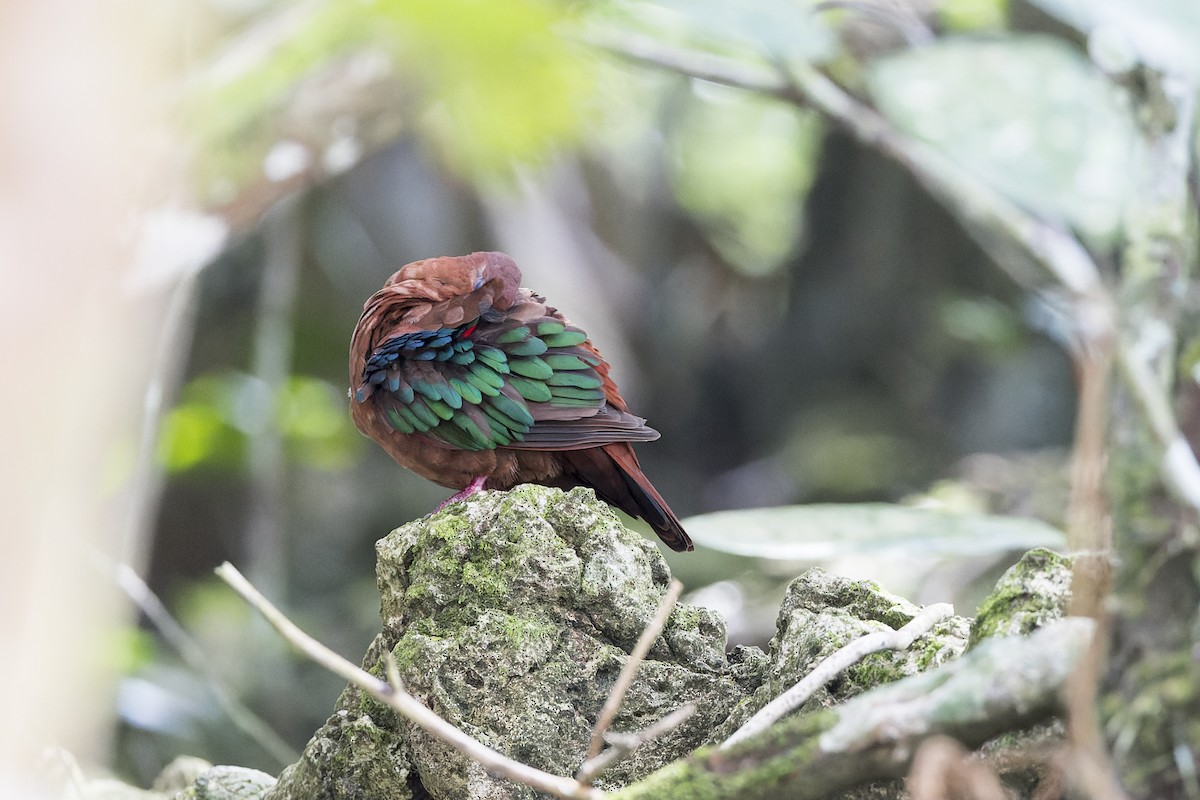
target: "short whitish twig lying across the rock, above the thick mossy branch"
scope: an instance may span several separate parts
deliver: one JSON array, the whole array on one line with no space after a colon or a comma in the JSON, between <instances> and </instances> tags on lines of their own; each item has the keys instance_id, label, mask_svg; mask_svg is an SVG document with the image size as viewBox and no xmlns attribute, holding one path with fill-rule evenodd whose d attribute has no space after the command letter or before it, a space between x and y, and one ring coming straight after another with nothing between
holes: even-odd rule
<instances>
[{"instance_id":1,"label":"short whitish twig lying across the rock, above the thick mossy branch","mask_svg":"<svg viewBox=\"0 0 1200 800\"><path fill-rule=\"evenodd\" d=\"M869 633L834 651L818 663L812 672L805 675L800 682L761 708L745 724L734 730L733 735L721 742L721 750L732 747L739 741L744 741L766 730L780 718L804 705L804 702L814 692L836 678L842 670L858 663L870 654L881 650L907 649L913 642L928 633L930 628L952 614L954 614L954 607L949 603L934 603L932 606L926 606L899 631Z\"/></svg>"}]
</instances>

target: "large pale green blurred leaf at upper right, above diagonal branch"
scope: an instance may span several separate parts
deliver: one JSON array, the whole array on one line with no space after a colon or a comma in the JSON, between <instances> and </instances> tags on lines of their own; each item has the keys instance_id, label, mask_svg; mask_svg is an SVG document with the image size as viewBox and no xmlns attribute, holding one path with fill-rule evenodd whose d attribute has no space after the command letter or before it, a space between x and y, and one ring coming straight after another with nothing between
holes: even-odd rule
<instances>
[{"instance_id":1,"label":"large pale green blurred leaf at upper right, above diagonal branch","mask_svg":"<svg viewBox=\"0 0 1200 800\"><path fill-rule=\"evenodd\" d=\"M1092 241L1116 235L1133 125L1116 89L1043 36L944 40L872 65L880 109L1021 205Z\"/></svg>"}]
</instances>

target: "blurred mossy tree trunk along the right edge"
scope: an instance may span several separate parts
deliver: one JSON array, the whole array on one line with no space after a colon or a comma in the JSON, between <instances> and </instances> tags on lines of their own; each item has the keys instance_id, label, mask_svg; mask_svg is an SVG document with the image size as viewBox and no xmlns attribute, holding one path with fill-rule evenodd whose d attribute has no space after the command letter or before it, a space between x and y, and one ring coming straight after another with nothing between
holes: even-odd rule
<instances>
[{"instance_id":1,"label":"blurred mossy tree trunk along the right edge","mask_svg":"<svg viewBox=\"0 0 1200 800\"><path fill-rule=\"evenodd\" d=\"M1192 276L1195 204L1189 191L1195 174L1195 88L1148 71L1132 83L1146 158L1126 218L1117 296L1121 333L1127 348L1146 356L1154 372L1147 378L1163 397L1174 398L1195 452L1200 326ZM1126 389L1136 380L1129 360L1121 357L1120 367L1126 380L1117 383L1112 398L1109 456L1117 602L1100 714L1117 771L1130 793L1198 798L1196 498L1180 487L1187 485L1187 465L1170 446L1163 451L1163 420L1156 420L1154 409L1145 403L1135 403Z\"/></svg>"}]
</instances>

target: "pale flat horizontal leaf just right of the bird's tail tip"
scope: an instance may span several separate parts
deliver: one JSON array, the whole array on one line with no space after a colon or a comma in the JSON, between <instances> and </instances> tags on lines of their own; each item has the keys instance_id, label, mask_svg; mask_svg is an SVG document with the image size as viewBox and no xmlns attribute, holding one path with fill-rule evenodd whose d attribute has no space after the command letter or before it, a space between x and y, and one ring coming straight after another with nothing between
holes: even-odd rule
<instances>
[{"instance_id":1,"label":"pale flat horizontal leaf just right of the bird's tail tip","mask_svg":"<svg viewBox=\"0 0 1200 800\"><path fill-rule=\"evenodd\" d=\"M809 505L719 511L689 517L697 545L758 558L824 561L904 549L930 555L985 555L1062 548L1062 531L1036 519L947 513L888 504Z\"/></svg>"}]
</instances>

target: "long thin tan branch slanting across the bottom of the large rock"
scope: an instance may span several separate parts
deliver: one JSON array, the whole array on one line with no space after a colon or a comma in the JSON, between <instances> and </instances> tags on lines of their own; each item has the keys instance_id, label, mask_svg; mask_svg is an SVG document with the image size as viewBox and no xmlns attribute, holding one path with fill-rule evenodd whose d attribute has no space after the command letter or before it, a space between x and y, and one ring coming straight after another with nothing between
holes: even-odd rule
<instances>
[{"instance_id":1,"label":"long thin tan branch slanting across the bottom of the large rock","mask_svg":"<svg viewBox=\"0 0 1200 800\"><path fill-rule=\"evenodd\" d=\"M409 722L419 726L430 735L440 739L462 754L480 764L488 772L523 783L538 792L552 794L566 800L602 800L606 795L599 789L583 786L569 777L542 772L527 764L515 762L497 752L458 728L454 727L437 714L427 709L420 700L402 688L379 680L366 669L350 663L320 642L301 631L278 608L271 604L228 561L217 567L216 573L228 583L246 602L257 608L284 639L296 646L312 661L364 690L380 703L386 704Z\"/></svg>"}]
</instances>

